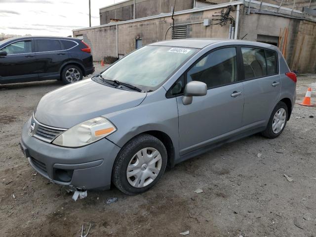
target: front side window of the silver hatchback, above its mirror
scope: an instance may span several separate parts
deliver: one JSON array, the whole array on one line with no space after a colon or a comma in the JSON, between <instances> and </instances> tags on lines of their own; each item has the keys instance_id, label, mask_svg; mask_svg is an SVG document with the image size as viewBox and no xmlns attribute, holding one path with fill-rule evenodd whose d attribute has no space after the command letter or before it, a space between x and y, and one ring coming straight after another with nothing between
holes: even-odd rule
<instances>
[{"instance_id":1,"label":"front side window of the silver hatchback, above its mirror","mask_svg":"<svg viewBox=\"0 0 316 237\"><path fill-rule=\"evenodd\" d=\"M218 49L200 59L187 74L187 82L198 80L214 87L237 80L236 48Z\"/></svg>"}]
</instances>

